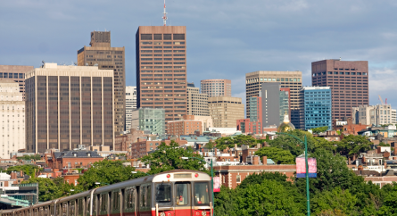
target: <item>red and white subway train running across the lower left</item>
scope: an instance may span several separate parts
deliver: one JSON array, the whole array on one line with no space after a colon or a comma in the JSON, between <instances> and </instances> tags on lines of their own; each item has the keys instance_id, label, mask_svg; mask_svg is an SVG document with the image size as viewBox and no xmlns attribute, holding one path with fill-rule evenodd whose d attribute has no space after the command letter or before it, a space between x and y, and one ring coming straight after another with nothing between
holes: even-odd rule
<instances>
[{"instance_id":1,"label":"red and white subway train running across the lower left","mask_svg":"<svg viewBox=\"0 0 397 216\"><path fill-rule=\"evenodd\" d=\"M34 204L0 216L211 216L211 177L170 170Z\"/></svg>"}]
</instances>

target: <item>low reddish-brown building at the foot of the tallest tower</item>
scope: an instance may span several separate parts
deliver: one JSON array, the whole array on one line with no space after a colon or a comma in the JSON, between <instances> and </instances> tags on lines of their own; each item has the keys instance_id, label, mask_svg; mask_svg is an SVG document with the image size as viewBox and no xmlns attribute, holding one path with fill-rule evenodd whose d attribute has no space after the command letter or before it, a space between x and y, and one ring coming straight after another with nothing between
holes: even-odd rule
<instances>
[{"instance_id":1,"label":"low reddish-brown building at the foot of the tallest tower","mask_svg":"<svg viewBox=\"0 0 397 216\"><path fill-rule=\"evenodd\" d=\"M169 135L190 135L196 131L200 131L200 134L203 134L202 121L194 120L193 115L184 115L183 118L184 120L169 121Z\"/></svg>"}]
</instances>

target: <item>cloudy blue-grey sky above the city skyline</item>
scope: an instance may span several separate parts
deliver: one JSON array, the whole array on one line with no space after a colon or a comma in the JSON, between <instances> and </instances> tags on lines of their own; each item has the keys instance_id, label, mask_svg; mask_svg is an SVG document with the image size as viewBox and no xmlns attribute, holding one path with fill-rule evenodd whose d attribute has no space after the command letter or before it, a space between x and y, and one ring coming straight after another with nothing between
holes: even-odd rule
<instances>
[{"instance_id":1,"label":"cloudy blue-grey sky above the city skyline","mask_svg":"<svg viewBox=\"0 0 397 216\"><path fill-rule=\"evenodd\" d=\"M167 0L167 25L186 26L187 79L231 79L245 101L245 73L302 71L311 62L368 61L369 104L397 108L395 0ZM126 84L136 86L138 26L162 25L161 0L0 1L0 64L71 64L90 32L110 30L126 48Z\"/></svg>"}]
</instances>

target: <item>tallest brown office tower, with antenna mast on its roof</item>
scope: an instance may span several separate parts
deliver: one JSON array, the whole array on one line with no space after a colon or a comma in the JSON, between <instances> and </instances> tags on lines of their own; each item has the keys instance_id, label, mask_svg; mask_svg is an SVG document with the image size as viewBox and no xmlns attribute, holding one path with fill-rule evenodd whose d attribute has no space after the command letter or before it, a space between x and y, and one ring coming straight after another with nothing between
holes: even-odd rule
<instances>
[{"instance_id":1,"label":"tallest brown office tower, with antenna mast on its roof","mask_svg":"<svg viewBox=\"0 0 397 216\"><path fill-rule=\"evenodd\" d=\"M186 115L186 26L136 31L136 107L165 109L165 121Z\"/></svg>"}]
</instances>

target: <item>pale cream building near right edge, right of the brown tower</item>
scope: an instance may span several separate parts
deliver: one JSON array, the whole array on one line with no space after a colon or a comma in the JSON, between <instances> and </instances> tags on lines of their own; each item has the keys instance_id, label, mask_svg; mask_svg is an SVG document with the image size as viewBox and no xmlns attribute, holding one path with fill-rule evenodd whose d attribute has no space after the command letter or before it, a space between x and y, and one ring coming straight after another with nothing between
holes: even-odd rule
<instances>
[{"instance_id":1,"label":"pale cream building near right edge, right of the brown tower","mask_svg":"<svg viewBox=\"0 0 397 216\"><path fill-rule=\"evenodd\" d=\"M383 125L396 123L396 110L391 104L352 107L353 124Z\"/></svg>"}]
</instances>

